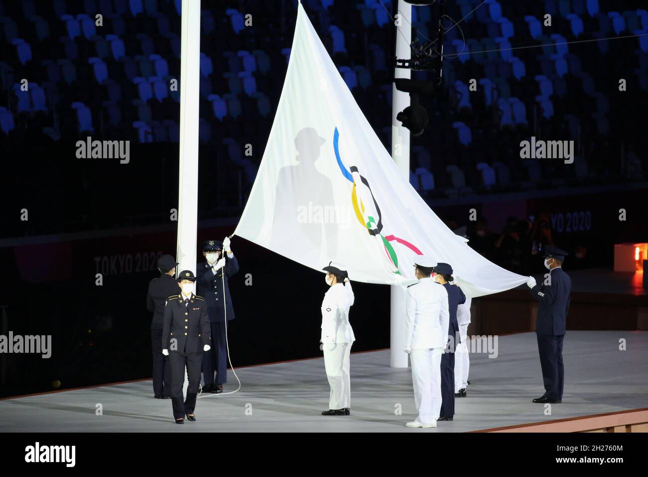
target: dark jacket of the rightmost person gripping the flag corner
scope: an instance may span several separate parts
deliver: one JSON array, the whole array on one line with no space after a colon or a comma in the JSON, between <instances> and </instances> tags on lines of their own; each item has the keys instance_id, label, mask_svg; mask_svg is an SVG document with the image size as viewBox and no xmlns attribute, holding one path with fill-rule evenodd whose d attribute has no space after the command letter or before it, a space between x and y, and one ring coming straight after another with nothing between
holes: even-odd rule
<instances>
[{"instance_id":1,"label":"dark jacket of the rightmost person gripping the flag corner","mask_svg":"<svg viewBox=\"0 0 648 477\"><path fill-rule=\"evenodd\" d=\"M551 269L551 284L531 288L531 296L538 300L538 321L535 332L539 335L565 334L567 312L572 292L572 280L561 267Z\"/></svg>"}]
</instances>

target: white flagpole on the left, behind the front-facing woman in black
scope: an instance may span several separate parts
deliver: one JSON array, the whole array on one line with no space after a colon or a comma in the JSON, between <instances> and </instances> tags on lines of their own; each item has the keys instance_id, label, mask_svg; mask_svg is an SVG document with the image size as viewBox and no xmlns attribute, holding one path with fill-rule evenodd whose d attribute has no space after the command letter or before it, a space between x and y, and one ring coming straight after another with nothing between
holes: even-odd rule
<instances>
[{"instance_id":1,"label":"white flagpole on the left, behind the front-facing woman in black","mask_svg":"<svg viewBox=\"0 0 648 477\"><path fill-rule=\"evenodd\" d=\"M176 273L196 273L198 234L198 104L200 93L200 0L185 0L181 10L180 160ZM187 374L183 393L187 395Z\"/></svg>"}]
</instances>

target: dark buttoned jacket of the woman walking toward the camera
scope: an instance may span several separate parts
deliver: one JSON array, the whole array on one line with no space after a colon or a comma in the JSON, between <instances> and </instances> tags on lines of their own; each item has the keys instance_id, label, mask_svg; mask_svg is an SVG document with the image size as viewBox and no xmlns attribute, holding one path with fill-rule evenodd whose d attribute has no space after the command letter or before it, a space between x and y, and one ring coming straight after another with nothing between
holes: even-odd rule
<instances>
[{"instance_id":1,"label":"dark buttoned jacket of the woman walking toward the camera","mask_svg":"<svg viewBox=\"0 0 648 477\"><path fill-rule=\"evenodd\" d=\"M211 346L211 326L207 319L205 299L192 293L185 306L184 295L172 295L167 299L164 309L162 328L162 349L197 353L204 345ZM171 339L176 338L177 346L171 347Z\"/></svg>"}]
</instances>

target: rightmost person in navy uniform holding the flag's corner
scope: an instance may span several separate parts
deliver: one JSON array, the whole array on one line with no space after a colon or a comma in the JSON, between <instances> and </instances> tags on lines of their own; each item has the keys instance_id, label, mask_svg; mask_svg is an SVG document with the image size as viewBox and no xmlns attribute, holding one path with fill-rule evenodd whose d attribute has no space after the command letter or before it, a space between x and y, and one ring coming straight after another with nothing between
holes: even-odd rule
<instances>
[{"instance_id":1,"label":"rightmost person in navy uniform holding the flag's corner","mask_svg":"<svg viewBox=\"0 0 648 477\"><path fill-rule=\"evenodd\" d=\"M536 335L540 367L544 381L544 395L533 402L562 402L564 387L564 365L562 363L562 340L566 330L567 312L569 311L572 280L562 271L562 262L567 252L556 247L544 249L544 266L549 273L542 285L537 285L535 278L529 276L527 286L531 296L538 300L538 320Z\"/></svg>"}]
</instances>

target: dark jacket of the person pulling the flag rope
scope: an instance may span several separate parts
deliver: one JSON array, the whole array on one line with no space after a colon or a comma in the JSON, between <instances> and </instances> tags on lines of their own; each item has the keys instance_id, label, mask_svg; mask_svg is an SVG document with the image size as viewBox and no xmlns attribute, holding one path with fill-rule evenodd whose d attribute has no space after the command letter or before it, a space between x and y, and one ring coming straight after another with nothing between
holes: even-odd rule
<instances>
[{"instance_id":1,"label":"dark jacket of the person pulling the flag rope","mask_svg":"<svg viewBox=\"0 0 648 477\"><path fill-rule=\"evenodd\" d=\"M227 307L227 321L234 319L234 308L232 299L229 296L229 284L227 279L238 272L238 260L235 255L232 258L226 257L225 266L216 272L211 271L211 265L207 262L196 265L196 291L205 297L209 310L209 321L212 323L225 321L225 307ZM225 296L223 296L223 278L225 273Z\"/></svg>"}]
</instances>

